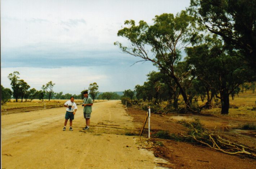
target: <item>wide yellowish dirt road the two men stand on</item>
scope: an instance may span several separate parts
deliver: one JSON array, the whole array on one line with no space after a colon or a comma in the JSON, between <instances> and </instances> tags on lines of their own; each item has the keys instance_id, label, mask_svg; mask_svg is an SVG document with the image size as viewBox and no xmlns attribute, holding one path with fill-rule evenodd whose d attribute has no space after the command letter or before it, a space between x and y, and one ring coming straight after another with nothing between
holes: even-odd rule
<instances>
[{"instance_id":1,"label":"wide yellowish dirt road the two men stand on","mask_svg":"<svg viewBox=\"0 0 256 169\"><path fill-rule=\"evenodd\" d=\"M94 103L88 131L81 106L74 131L62 131L64 116L64 107L2 115L2 168L156 168L137 137L124 135L136 126L120 101Z\"/></svg>"}]
</instances>

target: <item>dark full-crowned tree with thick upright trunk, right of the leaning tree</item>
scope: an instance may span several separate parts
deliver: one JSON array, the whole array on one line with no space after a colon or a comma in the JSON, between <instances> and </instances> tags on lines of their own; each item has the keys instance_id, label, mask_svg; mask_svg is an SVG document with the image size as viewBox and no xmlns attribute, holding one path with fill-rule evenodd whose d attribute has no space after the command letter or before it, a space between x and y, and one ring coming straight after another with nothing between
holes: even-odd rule
<instances>
[{"instance_id":1,"label":"dark full-crowned tree with thick upright trunk, right of the leaning tree","mask_svg":"<svg viewBox=\"0 0 256 169\"><path fill-rule=\"evenodd\" d=\"M239 85L255 79L253 71L244 64L243 58L236 55L237 52L227 50L216 35L207 35L203 43L186 48L191 72L214 89L215 96L221 99L221 114L229 113L229 95Z\"/></svg>"}]
</instances>

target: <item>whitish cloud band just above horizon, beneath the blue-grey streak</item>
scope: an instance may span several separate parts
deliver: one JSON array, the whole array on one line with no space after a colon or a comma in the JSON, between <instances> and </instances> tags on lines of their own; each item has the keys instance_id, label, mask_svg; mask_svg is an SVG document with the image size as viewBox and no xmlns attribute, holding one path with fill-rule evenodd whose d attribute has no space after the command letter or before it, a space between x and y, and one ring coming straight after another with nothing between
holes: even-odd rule
<instances>
[{"instance_id":1,"label":"whitish cloud band just above horizon, beneath the blue-grey streak","mask_svg":"<svg viewBox=\"0 0 256 169\"><path fill-rule=\"evenodd\" d=\"M61 67L54 69L31 67L8 67L1 69L1 84L11 88L7 76L18 71L19 78L23 79L31 88L41 90L42 85L52 81L54 92L79 94L81 90L88 89L89 84L96 82L99 91L124 91L132 89L135 85L142 85L150 71L155 70L150 62L134 66L88 66L88 67Z\"/></svg>"}]
</instances>

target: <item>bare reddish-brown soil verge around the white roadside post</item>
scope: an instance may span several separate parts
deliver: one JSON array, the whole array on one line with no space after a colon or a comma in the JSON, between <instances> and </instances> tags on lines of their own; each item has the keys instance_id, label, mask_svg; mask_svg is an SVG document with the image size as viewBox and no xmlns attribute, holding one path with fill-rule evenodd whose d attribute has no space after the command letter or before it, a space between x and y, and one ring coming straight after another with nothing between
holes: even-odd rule
<instances>
[{"instance_id":1,"label":"bare reddish-brown soil verge around the white roadside post","mask_svg":"<svg viewBox=\"0 0 256 169\"><path fill-rule=\"evenodd\" d=\"M128 113L133 117L134 123L142 123L146 116L146 111L137 108L128 108ZM211 117L212 118L212 117ZM218 118L216 118L218 120ZM175 123L171 114L159 115L151 113L150 128L152 134L159 130L165 130L169 133L186 133L186 127ZM137 128L139 131L140 128ZM147 137L147 125L145 126L142 137ZM163 146L153 144L143 148L154 151L156 157L163 158L169 164L162 166L168 168L255 168L256 160L244 158L238 155L224 154L223 152L213 150L209 147L195 145L186 142L177 142L173 140L159 139L151 137L153 143L162 142ZM255 142L254 142L255 144Z\"/></svg>"}]
</instances>

